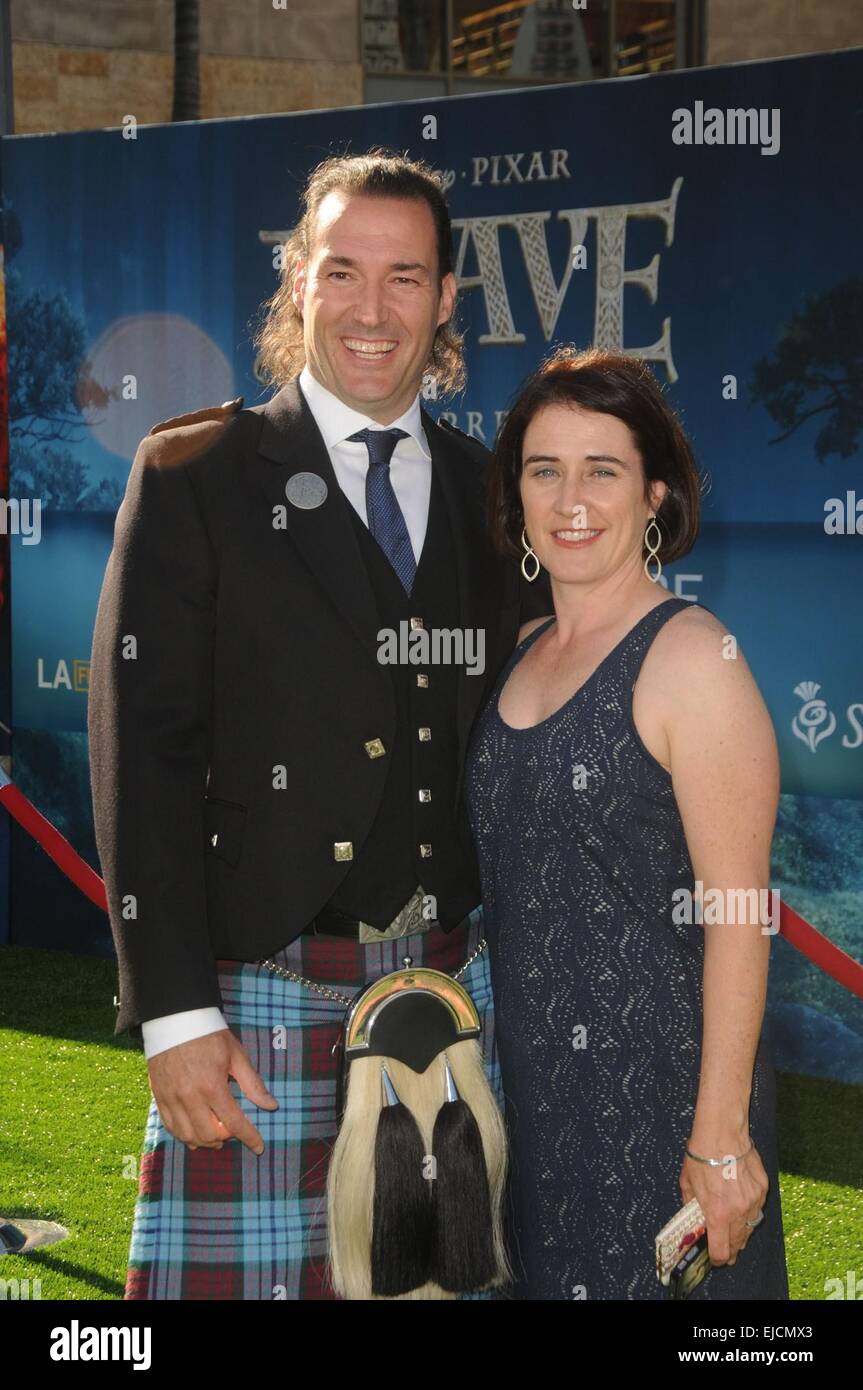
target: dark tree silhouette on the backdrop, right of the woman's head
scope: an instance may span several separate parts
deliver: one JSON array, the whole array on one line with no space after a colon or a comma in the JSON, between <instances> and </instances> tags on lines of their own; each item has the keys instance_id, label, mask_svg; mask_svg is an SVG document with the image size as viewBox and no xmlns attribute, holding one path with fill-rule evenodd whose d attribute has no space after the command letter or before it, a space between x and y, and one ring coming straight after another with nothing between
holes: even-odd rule
<instances>
[{"instance_id":1,"label":"dark tree silhouette on the backdrop, right of the woman's head","mask_svg":"<svg viewBox=\"0 0 863 1390\"><path fill-rule=\"evenodd\" d=\"M807 299L774 353L756 361L749 395L782 431L770 443L824 416L817 459L856 453L863 430L863 279L852 277Z\"/></svg>"}]
</instances>

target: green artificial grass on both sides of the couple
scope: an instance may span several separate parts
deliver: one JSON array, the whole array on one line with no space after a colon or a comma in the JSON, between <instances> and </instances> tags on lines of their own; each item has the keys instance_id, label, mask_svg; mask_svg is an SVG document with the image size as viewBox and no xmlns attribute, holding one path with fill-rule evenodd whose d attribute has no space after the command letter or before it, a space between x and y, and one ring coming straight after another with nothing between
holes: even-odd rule
<instances>
[{"instance_id":1,"label":"green artificial grass on both sides of the couple","mask_svg":"<svg viewBox=\"0 0 863 1390\"><path fill-rule=\"evenodd\" d=\"M0 1279L43 1300L122 1298L150 1088L115 992L111 960L0 948L0 1216L69 1230ZM863 1088L780 1074L777 1118L791 1297L823 1300L863 1276Z\"/></svg>"}]
</instances>

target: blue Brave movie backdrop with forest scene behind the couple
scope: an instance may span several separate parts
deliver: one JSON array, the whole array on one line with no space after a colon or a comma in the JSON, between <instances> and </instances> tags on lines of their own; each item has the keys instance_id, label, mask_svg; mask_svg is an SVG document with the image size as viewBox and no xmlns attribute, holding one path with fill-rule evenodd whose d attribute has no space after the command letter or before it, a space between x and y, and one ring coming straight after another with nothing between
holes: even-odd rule
<instances>
[{"instance_id":1,"label":"blue Brave movie backdrop with forest scene behind the couple","mask_svg":"<svg viewBox=\"0 0 863 1390\"><path fill-rule=\"evenodd\" d=\"M709 478L668 584L721 616L770 706L774 887L859 959L862 90L857 50L3 139L8 496L42 499L39 535L10 537L11 689L0 678L22 791L97 867L88 657L131 459L157 420L267 398L250 321L304 177L384 143L442 172L454 220L468 385L432 414L492 445L559 342L641 353L668 385ZM10 838L0 940L110 954L107 917ZM863 1083L860 1001L782 940L769 1013L780 1066Z\"/></svg>"}]
</instances>

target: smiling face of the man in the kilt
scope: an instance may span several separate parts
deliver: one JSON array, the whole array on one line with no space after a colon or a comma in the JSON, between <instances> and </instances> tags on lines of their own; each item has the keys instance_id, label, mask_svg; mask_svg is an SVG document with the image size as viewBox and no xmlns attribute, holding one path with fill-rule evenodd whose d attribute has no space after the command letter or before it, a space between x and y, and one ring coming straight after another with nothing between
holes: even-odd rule
<instances>
[{"instance_id":1,"label":"smiling face of the man in the kilt","mask_svg":"<svg viewBox=\"0 0 863 1390\"><path fill-rule=\"evenodd\" d=\"M438 284L431 207L422 199L328 193L293 302L313 377L347 406L391 424L420 389L435 331L456 300Z\"/></svg>"}]
</instances>

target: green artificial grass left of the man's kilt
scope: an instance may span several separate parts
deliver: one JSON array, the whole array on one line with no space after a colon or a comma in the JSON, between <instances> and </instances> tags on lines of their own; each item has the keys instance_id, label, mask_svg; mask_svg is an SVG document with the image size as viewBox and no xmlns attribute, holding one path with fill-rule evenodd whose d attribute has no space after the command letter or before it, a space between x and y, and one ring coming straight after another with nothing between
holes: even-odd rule
<instances>
[{"instance_id":1,"label":"green artificial grass left of the man's kilt","mask_svg":"<svg viewBox=\"0 0 863 1390\"><path fill-rule=\"evenodd\" d=\"M56 1220L68 1240L3 1255L0 1279L46 1298L122 1298L150 1087L114 1038L117 966L0 949L0 1216Z\"/></svg>"}]
</instances>

